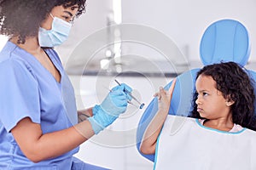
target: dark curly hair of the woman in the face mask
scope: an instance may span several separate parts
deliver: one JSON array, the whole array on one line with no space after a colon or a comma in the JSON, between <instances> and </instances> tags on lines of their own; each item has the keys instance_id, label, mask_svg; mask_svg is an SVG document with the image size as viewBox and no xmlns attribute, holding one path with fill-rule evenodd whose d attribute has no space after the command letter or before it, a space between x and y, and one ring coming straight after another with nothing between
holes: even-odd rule
<instances>
[{"instance_id":1,"label":"dark curly hair of the woman in the face mask","mask_svg":"<svg viewBox=\"0 0 256 170\"><path fill-rule=\"evenodd\" d=\"M18 43L26 37L38 35L38 28L55 6L64 8L78 4L76 17L85 11L86 0L0 0L0 34L19 36Z\"/></svg>"}]
</instances>

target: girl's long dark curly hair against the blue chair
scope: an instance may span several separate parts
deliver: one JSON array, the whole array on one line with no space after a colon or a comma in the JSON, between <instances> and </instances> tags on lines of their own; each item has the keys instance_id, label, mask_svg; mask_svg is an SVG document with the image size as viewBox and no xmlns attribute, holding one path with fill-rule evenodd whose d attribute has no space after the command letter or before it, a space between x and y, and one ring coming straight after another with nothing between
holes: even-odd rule
<instances>
[{"instance_id":1,"label":"girl's long dark curly hair against the blue chair","mask_svg":"<svg viewBox=\"0 0 256 170\"><path fill-rule=\"evenodd\" d=\"M200 75L212 77L216 82L216 88L223 94L224 99L235 101L231 105L232 120L234 123L256 130L254 117L255 94L253 88L253 83L255 82L241 66L235 62L207 65L197 73L196 79ZM193 110L190 116L201 118L196 111L196 99L197 93L193 97Z\"/></svg>"}]
</instances>

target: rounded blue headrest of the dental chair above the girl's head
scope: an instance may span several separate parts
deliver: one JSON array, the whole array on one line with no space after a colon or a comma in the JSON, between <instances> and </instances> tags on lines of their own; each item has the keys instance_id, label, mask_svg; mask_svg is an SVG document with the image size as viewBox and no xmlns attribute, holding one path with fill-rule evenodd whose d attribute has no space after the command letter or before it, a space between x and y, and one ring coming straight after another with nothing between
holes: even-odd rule
<instances>
[{"instance_id":1,"label":"rounded blue headrest of the dental chair above the girl's head","mask_svg":"<svg viewBox=\"0 0 256 170\"><path fill-rule=\"evenodd\" d=\"M247 64L250 42L245 26L236 20L218 20L207 27L201 38L200 55L204 65L220 61Z\"/></svg>"}]
</instances>

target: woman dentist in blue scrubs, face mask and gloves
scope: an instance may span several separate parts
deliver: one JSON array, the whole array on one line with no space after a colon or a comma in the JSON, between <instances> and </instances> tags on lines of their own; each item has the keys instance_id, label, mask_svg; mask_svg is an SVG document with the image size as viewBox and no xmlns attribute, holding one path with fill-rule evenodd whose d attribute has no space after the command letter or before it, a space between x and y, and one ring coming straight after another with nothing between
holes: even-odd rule
<instances>
[{"instance_id":1,"label":"woman dentist in blue scrubs, face mask and gloves","mask_svg":"<svg viewBox=\"0 0 256 170\"><path fill-rule=\"evenodd\" d=\"M9 37L0 53L0 169L78 168L73 155L79 144L126 111L131 88L125 84L102 104L76 110L54 47L67 39L84 3L0 0L0 34ZM84 114L90 117L84 120Z\"/></svg>"}]
</instances>

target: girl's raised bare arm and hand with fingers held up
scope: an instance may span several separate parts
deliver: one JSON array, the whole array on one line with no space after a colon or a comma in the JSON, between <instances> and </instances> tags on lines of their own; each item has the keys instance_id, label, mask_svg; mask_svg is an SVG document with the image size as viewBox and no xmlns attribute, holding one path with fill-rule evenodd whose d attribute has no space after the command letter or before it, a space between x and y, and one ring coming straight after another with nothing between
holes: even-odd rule
<instances>
[{"instance_id":1,"label":"girl's raised bare arm and hand with fingers held up","mask_svg":"<svg viewBox=\"0 0 256 170\"><path fill-rule=\"evenodd\" d=\"M175 83L176 79L173 80L172 86L168 91L160 88L160 92L154 94L154 96L159 98L159 110L155 114L153 120L149 123L148 128L143 135L143 140L140 146L140 150L143 154L155 153L156 141L166 120L166 116L168 115Z\"/></svg>"}]
</instances>

